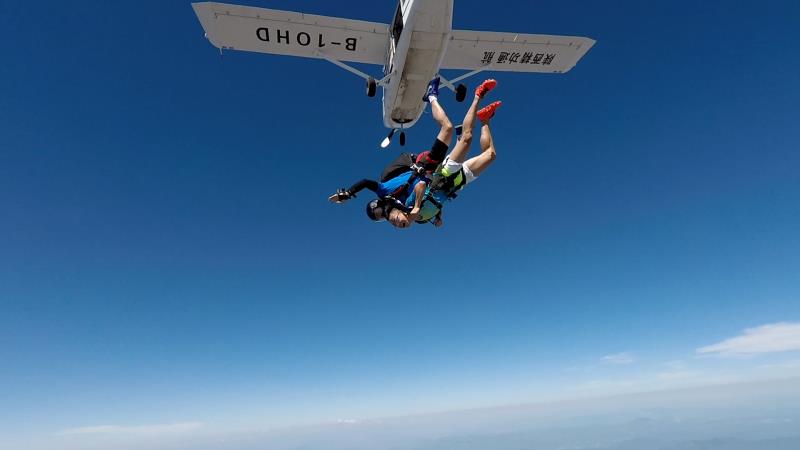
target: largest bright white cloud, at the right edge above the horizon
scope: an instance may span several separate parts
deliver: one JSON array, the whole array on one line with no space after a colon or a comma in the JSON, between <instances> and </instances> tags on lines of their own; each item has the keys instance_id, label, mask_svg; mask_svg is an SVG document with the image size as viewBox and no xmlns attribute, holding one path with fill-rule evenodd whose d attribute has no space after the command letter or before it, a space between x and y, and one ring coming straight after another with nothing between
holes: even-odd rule
<instances>
[{"instance_id":1,"label":"largest bright white cloud, at the right edge above the horizon","mask_svg":"<svg viewBox=\"0 0 800 450\"><path fill-rule=\"evenodd\" d=\"M744 330L744 334L700 347L701 355L751 356L800 350L800 323L781 322Z\"/></svg>"}]
</instances>

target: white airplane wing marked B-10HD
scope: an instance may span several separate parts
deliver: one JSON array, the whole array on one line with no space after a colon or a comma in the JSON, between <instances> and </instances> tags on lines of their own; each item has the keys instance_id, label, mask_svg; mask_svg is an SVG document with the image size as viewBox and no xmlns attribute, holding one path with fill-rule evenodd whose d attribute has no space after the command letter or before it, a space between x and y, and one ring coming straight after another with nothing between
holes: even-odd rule
<instances>
[{"instance_id":1,"label":"white airplane wing marked B-10HD","mask_svg":"<svg viewBox=\"0 0 800 450\"><path fill-rule=\"evenodd\" d=\"M275 9L193 3L206 37L219 49L384 64L389 26Z\"/></svg>"}]
</instances>

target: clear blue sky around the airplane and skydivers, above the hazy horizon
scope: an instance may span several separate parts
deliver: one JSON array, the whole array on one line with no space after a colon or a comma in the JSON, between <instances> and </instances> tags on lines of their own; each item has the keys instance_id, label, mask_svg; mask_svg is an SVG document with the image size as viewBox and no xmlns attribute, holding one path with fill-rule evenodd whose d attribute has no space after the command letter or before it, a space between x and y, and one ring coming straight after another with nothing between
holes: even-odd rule
<instances>
[{"instance_id":1,"label":"clear blue sky around the airplane and skydivers, above the hazy horizon","mask_svg":"<svg viewBox=\"0 0 800 450\"><path fill-rule=\"evenodd\" d=\"M399 151L347 72L220 58L186 2L4 9L0 435L797 373L796 2L459 0L456 28L598 44L566 75L497 74L497 162L445 228L406 231L326 201ZM780 323L783 346L697 352Z\"/></svg>"}]
</instances>

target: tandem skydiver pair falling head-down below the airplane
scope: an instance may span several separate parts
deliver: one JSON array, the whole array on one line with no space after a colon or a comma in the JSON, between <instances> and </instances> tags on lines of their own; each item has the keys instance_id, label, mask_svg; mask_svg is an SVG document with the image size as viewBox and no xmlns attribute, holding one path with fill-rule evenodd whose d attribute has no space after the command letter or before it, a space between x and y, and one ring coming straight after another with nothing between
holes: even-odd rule
<instances>
[{"instance_id":1,"label":"tandem skydiver pair falling head-down below the airplane","mask_svg":"<svg viewBox=\"0 0 800 450\"><path fill-rule=\"evenodd\" d=\"M339 189L329 200L344 203L368 189L378 196L367 204L367 216L371 220L386 220L396 228L408 228L413 223L441 227L444 203L453 200L458 191L475 181L497 157L490 121L502 103L494 102L478 110L481 100L496 86L497 81L492 79L478 86L464 122L460 130L456 130L439 104L439 78L434 78L424 98L431 104L433 119L441 127L431 149L419 155L403 153L384 168L380 182L363 179L349 189ZM476 117L481 122L481 153L467 159ZM460 131L460 136L453 151L447 154L454 131Z\"/></svg>"}]
</instances>

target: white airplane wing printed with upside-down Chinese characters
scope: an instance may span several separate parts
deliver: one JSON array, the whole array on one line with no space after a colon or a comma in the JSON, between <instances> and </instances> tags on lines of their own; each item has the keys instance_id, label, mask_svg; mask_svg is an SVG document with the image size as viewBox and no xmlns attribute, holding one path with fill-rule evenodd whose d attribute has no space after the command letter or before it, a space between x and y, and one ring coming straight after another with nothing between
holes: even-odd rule
<instances>
[{"instance_id":1,"label":"white airplane wing printed with upside-down Chinese characters","mask_svg":"<svg viewBox=\"0 0 800 450\"><path fill-rule=\"evenodd\" d=\"M564 73L594 43L584 37L453 30L442 68Z\"/></svg>"}]
</instances>

